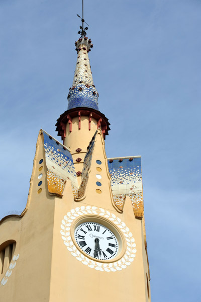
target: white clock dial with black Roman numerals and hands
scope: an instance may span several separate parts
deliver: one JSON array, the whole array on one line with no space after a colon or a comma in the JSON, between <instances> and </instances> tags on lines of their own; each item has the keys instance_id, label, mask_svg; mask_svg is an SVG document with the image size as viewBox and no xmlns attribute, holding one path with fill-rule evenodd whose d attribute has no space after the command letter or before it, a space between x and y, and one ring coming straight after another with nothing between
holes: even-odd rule
<instances>
[{"instance_id":1,"label":"white clock dial with black Roman numerals and hands","mask_svg":"<svg viewBox=\"0 0 201 302\"><path fill-rule=\"evenodd\" d=\"M80 249L90 257L109 260L118 254L118 240L105 225L96 222L81 223L75 229L74 236Z\"/></svg>"}]
</instances>

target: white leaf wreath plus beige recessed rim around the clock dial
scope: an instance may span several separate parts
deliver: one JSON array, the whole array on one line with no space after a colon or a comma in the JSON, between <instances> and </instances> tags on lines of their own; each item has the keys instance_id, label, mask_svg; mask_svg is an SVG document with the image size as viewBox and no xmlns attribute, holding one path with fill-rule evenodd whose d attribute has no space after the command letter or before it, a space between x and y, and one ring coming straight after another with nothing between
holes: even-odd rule
<instances>
[{"instance_id":1,"label":"white leaf wreath plus beige recessed rim around the clock dial","mask_svg":"<svg viewBox=\"0 0 201 302\"><path fill-rule=\"evenodd\" d=\"M121 252L112 261L103 261L85 256L83 251L77 246L74 239L74 229L81 223L81 221L98 221L100 223L108 224L110 229L117 230L116 234L120 238ZM106 223L108 221L108 223ZM107 225L106 225L107 226ZM121 221L115 214L110 213L103 208L95 206L81 206L70 210L62 220L61 237L65 246L72 256L76 257L78 261L90 268L99 271L115 272L127 268L136 256L136 244L132 233L126 224ZM118 235L119 234L119 235ZM94 260L93 260L94 259Z\"/></svg>"}]
</instances>

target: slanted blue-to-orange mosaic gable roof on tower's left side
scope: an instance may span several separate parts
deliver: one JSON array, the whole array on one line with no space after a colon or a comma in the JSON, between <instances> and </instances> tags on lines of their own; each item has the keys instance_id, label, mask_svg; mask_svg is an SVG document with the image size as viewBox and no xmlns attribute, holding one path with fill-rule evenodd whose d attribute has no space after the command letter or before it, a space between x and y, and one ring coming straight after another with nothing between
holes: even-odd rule
<instances>
[{"instance_id":1,"label":"slanted blue-to-orange mosaic gable roof on tower's left side","mask_svg":"<svg viewBox=\"0 0 201 302\"><path fill-rule=\"evenodd\" d=\"M42 132L49 193L62 196L65 182L70 180L74 197L77 197L77 177L69 150L47 132L44 130Z\"/></svg>"}]
</instances>

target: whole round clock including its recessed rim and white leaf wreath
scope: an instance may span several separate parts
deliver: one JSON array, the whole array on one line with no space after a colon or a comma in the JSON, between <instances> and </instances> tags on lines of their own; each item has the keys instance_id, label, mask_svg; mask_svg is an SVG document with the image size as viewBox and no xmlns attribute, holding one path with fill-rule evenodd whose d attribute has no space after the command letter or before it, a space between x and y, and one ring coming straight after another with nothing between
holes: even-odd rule
<instances>
[{"instance_id":1,"label":"whole round clock including its recessed rim and white leaf wreath","mask_svg":"<svg viewBox=\"0 0 201 302\"><path fill-rule=\"evenodd\" d=\"M114 213L81 206L67 212L61 223L60 233L68 252L89 268L116 272L134 261L135 239L126 223Z\"/></svg>"}]
</instances>

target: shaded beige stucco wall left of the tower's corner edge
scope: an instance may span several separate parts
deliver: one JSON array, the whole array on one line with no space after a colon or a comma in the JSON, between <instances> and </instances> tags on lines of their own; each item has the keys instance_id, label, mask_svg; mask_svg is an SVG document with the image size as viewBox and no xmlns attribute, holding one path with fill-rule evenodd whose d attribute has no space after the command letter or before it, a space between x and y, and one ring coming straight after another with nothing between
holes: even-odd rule
<instances>
[{"instance_id":1,"label":"shaded beige stucco wall left of the tower's corner edge","mask_svg":"<svg viewBox=\"0 0 201 302\"><path fill-rule=\"evenodd\" d=\"M8 282L0 287L0 300L5 302L49 300L55 203L46 186L37 193L38 159L45 156L42 145L39 136L25 215L8 217L0 225L0 244L15 240L14 254L20 254Z\"/></svg>"}]
</instances>

